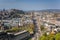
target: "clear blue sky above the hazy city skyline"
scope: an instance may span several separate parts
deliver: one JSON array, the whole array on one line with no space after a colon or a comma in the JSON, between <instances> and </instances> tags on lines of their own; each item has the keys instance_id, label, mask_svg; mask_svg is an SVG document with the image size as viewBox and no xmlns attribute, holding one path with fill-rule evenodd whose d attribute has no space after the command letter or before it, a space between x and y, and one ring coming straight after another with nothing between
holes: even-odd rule
<instances>
[{"instance_id":1,"label":"clear blue sky above the hazy city skyline","mask_svg":"<svg viewBox=\"0 0 60 40\"><path fill-rule=\"evenodd\" d=\"M0 9L60 9L60 0L0 0Z\"/></svg>"}]
</instances>

